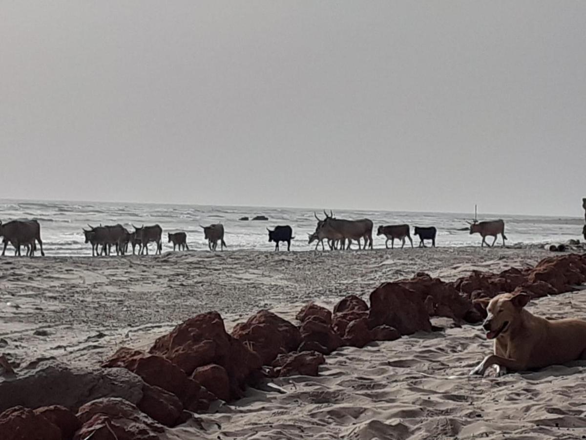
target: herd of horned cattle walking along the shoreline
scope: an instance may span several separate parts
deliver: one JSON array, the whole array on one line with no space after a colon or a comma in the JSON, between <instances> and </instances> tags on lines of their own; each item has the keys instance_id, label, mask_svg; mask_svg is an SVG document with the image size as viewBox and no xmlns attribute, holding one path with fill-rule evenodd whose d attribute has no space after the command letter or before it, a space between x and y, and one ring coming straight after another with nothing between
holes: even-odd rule
<instances>
[{"instance_id":1,"label":"herd of horned cattle walking along the shoreline","mask_svg":"<svg viewBox=\"0 0 586 440\"><path fill-rule=\"evenodd\" d=\"M314 212L315 219L318 221L315 232L309 235L309 244L315 243L315 249L318 249L319 244L322 245L322 250L325 251L324 241L327 243L329 249L351 249L352 242L355 241L358 249L372 249L372 231L373 222L367 218L360 220L346 220L339 219L333 216L330 211L328 215L323 211L325 217L320 219ZM144 226L137 228L132 225L134 231L130 232L122 225L113 226L91 226L90 229L83 229L86 243L91 245L91 255L101 256L110 255L114 247L116 255L126 255L129 252L129 246L132 247L132 254L148 255L149 243L155 243L155 254L161 253L162 233L163 230L159 225ZM222 224L213 224L210 226L201 226L203 234L207 240L207 245L210 251L215 251L218 242L220 242L220 249L223 250L226 246L224 242L224 226ZM394 248L395 239L401 241L401 249L405 246L405 240L408 239L413 248L413 239L411 239L409 225L388 225L379 226L377 235L384 235L386 237L385 247L389 249L389 241L391 241L391 249ZM277 226L272 231L268 229L268 241L275 243L275 251L279 250L279 243L287 243L287 251L291 249L291 240L293 230L291 226ZM503 246L505 246L505 222L502 220L493 220L485 222L470 223L470 233L479 233L482 236L482 244L487 246L494 246L498 235L502 236ZM414 235L420 239L419 247L426 247L425 240L430 240L431 245L435 247L435 236L437 229L434 226L421 227L415 226ZM491 245L486 242L486 237L492 236L494 240ZM13 220L7 223L0 221L0 237L4 243L2 249L2 256L6 252L6 246L11 243L15 248L15 255L21 255L21 246L26 249L27 256L34 256L36 245L39 244L41 255L43 252L43 242L40 238L40 225L36 220ZM179 251L187 249L187 234L185 232L175 232L167 234L168 242L173 243L173 251L176 247ZM361 244L364 241L364 245ZM138 251L137 251L138 246Z\"/></svg>"}]
</instances>

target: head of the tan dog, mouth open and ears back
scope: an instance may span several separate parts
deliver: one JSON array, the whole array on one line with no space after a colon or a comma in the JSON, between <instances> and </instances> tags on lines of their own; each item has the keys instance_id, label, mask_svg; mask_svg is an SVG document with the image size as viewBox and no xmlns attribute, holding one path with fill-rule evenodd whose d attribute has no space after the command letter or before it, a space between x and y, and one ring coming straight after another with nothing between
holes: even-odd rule
<instances>
[{"instance_id":1,"label":"head of the tan dog, mouth open and ears back","mask_svg":"<svg viewBox=\"0 0 586 440\"><path fill-rule=\"evenodd\" d=\"M486 330L488 339L495 339L506 335L516 320L519 319L521 310L529 302L531 297L526 293L501 293L493 299L479 299L476 303L486 306L486 319L482 328Z\"/></svg>"}]
</instances>

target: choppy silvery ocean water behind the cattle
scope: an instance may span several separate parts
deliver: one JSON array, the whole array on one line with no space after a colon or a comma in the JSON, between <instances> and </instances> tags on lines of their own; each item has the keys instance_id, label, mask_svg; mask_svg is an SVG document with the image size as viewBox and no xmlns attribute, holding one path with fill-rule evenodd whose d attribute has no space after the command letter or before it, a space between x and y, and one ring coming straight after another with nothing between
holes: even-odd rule
<instances>
[{"instance_id":1,"label":"choppy silvery ocean water behind the cattle","mask_svg":"<svg viewBox=\"0 0 586 440\"><path fill-rule=\"evenodd\" d=\"M374 222L374 247L384 248L384 236L376 236L380 225L409 224L413 226L435 226L438 229L437 246L480 245L478 234L469 235L466 221L470 214L446 212L399 212L399 211L357 211L334 209L338 218L369 218ZM323 212L318 211L323 218ZM239 218L265 215L268 221L240 221ZM292 251L310 251L315 243L308 244L308 233L315 231L314 209L264 208L264 207L223 207L203 205L135 204L114 202L64 202L25 201L0 199L0 220L37 219L41 225L43 248L47 256L91 256L91 246L84 243L83 228L122 224L129 231L131 225L159 224L163 228L163 252L172 251L167 243L167 232L185 231L189 248L207 251L207 242L199 225L222 223L228 250L254 249L272 251L274 243L268 242L266 228L275 225L290 225L295 235ZM584 218L549 217L527 215L490 215L483 219L502 218L505 220L507 245L536 245L538 243L561 243L568 239L583 239L581 236ZM490 240L490 239L489 239ZM497 244L500 245L500 237ZM418 238L413 237L414 245ZM489 241L490 242L490 241ZM397 245L397 241L395 242ZM407 245L409 245L407 241ZM356 244L353 245L356 248ZM154 252L151 244L149 252ZM282 249L287 249L281 246ZM321 248L320 248L321 249ZM13 255L6 250L7 255Z\"/></svg>"}]
</instances>

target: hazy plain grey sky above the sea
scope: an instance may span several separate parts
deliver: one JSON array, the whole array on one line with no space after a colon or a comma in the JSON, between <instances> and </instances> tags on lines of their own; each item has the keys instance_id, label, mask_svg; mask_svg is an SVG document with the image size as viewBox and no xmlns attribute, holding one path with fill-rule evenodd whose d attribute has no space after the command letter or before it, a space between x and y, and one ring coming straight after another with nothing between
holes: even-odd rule
<instances>
[{"instance_id":1,"label":"hazy plain grey sky above the sea","mask_svg":"<svg viewBox=\"0 0 586 440\"><path fill-rule=\"evenodd\" d=\"M584 215L586 2L0 5L0 197Z\"/></svg>"}]
</instances>

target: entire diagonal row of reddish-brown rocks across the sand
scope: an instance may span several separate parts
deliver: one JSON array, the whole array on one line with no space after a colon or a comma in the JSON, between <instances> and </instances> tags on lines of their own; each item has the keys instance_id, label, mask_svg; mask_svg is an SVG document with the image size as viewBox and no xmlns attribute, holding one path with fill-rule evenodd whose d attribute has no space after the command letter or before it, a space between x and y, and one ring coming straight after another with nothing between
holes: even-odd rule
<instances>
[{"instance_id":1,"label":"entire diagonal row of reddish-brown rocks across the sand","mask_svg":"<svg viewBox=\"0 0 586 440\"><path fill-rule=\"evenodd\" d=\"M298 326L261 310L229 334L219 313L199 314L148 351L120 348L97 370L49 360L17 374L0 363L0 432L6 440L165 438L192 412L237 400L266 377L317 375L323 355L340 347L431 331L433 316L478 323L485 312L473 300L480 297L520 291L541 297L584 282L586 256L580 255L448 283L418 273L378 287L370 306L354 295L333 310L310 303L297 314Z\"/></svg>"}]
</instances>

